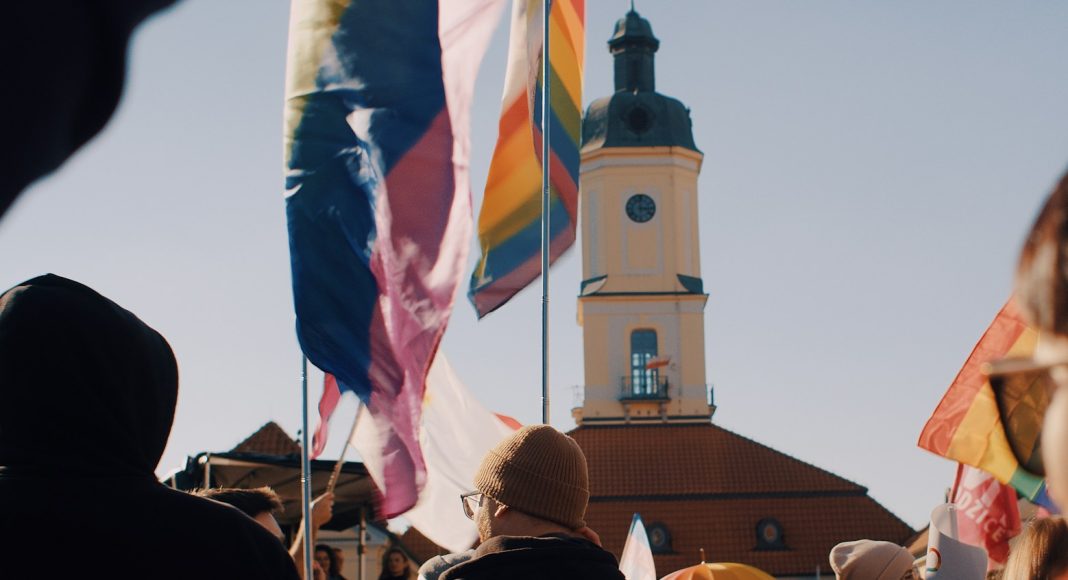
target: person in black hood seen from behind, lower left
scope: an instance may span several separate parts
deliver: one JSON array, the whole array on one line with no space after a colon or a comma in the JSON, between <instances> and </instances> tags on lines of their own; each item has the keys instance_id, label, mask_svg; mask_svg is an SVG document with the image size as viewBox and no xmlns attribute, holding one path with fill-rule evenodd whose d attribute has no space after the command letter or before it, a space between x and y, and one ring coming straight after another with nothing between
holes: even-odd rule
<instances>
[{"instance_id":1,"label":"person in black hood seen from behind, lower left","mask_svg":"<svg viewBox=\"0 0 1068 580\"><path fill-rule=\"evenodd\" d=\"M298 577L251 518L156 480L177 388L167 341L92 288L48 275L0 295L0 578ZM42 542L58 533L63 562Z\"/></svg>"}]
</instances>

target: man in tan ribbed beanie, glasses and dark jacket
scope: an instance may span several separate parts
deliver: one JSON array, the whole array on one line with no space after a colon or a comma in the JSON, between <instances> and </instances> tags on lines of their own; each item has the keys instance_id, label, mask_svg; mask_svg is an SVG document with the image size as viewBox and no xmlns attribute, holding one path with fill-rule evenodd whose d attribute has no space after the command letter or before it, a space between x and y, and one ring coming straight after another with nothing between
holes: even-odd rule
<instances>
[{"instance_id":1,"label":"man in tan ribbed beanie, glasses and dark jacket","mask_svg":"<svg viewBox=\"0 0 1068 580\"><path fill-rule=\"evenodd\" d=\"M441 580L624 580L615 557L583 520L590 475L570 437L548 425L525 426L486 454L474 485L461 500L482 544Z\"/></svg>"}]
</instances>

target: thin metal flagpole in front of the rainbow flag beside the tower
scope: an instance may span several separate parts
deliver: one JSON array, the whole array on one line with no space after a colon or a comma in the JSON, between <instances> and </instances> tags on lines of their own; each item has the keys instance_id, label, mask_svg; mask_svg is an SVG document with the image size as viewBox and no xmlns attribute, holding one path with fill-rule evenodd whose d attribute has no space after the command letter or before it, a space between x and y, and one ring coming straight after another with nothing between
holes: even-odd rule
<instances>
[{"instance_id":1,"label":"thin metal flagpole in front of the rainbow flag beside the tower","mask_svg":"<svg viewBox=\"0 0 1068 580\"><path fill-rule=\"evenodd\" d=\"M541 422L549 424L549 11L541 27Z\"/></svg>"}]
</instances>

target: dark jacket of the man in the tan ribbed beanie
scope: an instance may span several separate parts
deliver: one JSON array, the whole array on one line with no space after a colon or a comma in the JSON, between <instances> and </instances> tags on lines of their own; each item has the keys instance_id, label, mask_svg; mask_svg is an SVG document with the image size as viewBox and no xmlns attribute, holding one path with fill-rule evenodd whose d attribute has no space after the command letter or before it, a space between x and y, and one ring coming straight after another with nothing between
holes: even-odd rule
<instances>
[{"instance_id":1,"label":"dark jacket of the man in the tan ribbed beanie","mask_svg":"<svg viewBox=\"0 0 1068 580\"><path fill-rule=\"evenodd\" d=\"M498 536L478 546L474 555L441 580L624 580L615 557L572 536Z\"/></svg>"}]
</instances>

